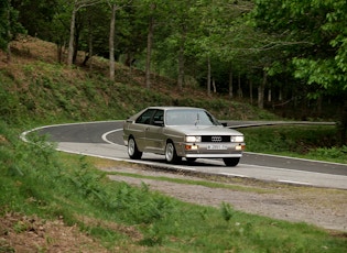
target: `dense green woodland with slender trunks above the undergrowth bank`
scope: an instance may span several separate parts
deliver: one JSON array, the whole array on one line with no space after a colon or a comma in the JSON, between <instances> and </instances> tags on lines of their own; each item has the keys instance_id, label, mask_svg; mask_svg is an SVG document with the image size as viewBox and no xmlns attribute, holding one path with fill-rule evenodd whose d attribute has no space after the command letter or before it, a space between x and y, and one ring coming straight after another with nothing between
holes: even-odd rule
<instances>
[{"instance_id":1,"label":"dense green woodland with slender trunks above the undergrowth bank","mask_svg":"<svg viewBox=\"0 0 347 253\"><path fill-rule=\"evenodd\" d=\"M346 143L346 12L344 0L4 0L0 46L10 64L10 43L28 33L71 67L105 57L110 81L116 62L143 70L147 89L155 73L182 92L197 86L299 119L330 113Z\"/></svg>"}]
</instances>

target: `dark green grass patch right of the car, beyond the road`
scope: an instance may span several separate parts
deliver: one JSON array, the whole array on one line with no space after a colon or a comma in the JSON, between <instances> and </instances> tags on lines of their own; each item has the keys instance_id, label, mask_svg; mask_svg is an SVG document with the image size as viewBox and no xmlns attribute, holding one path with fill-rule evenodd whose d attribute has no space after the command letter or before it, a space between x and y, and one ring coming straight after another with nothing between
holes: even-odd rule
<instances>
[{"instance_id":1,"label":"dark green grass patch right of the car, beyond the road","mask_svg":"<svg viewBox=\"0 0 347 253\"><path fill-rule=\"evenodd\" d=\"M347 164L334 125L274 125L240 129L247 151Z\"/></svg>"}]
</instances>

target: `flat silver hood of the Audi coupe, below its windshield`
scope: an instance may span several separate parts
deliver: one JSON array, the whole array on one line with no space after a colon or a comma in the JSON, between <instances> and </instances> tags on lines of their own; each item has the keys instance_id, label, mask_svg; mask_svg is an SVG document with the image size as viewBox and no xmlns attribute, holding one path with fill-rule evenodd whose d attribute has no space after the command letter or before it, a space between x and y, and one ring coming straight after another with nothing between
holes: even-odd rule
<instances>
[{"instance_id":1,"label":"flat silver hood of the Audi coupe, below its windshield","mask_svg":"<svg viewBox=\"0 0 347 253\"><path fill-rule=\"evenodd\" d=\"M170 125L165 129L185 135L243 135L239 131L223 125Z\"/></svg>"}]
</instances>

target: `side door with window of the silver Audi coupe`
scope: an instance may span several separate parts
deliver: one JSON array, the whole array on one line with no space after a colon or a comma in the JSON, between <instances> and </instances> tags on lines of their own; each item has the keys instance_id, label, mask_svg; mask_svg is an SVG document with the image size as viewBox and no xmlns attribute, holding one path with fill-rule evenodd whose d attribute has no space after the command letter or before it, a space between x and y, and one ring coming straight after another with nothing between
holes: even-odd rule
<instances>
[{"instance_id":1,"label":"side door with window of the silver Audi coupe","mask_svg":"<svg viewBox=\"0 0 347 253\"><path fill-rule=\"evenodd\" d=\"M145 129L147 151L158 154L164 153L165 136L164 129L164 110L158 109L151 119L150 125Z\"/></svg>"}]
</instances>

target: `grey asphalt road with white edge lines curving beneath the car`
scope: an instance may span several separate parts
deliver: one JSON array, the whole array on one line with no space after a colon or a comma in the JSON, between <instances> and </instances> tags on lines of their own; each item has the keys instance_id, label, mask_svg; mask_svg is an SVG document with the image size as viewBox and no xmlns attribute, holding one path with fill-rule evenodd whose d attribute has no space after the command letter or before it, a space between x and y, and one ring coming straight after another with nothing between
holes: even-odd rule
<instances>
[{"instance_id":1,"label":"grey asphalt road with white edge lines curving beneath the car","mask_svg":"<svg viewBox=\"0 0 347 253\"><path fill-rule=\"evenodd\" d=\"M240 122L228 122L228 124L240 128L248 122L243 122L241 125ZM240 164L236 167L224 166L221 160L197 160L193 165L187 165L184 162L181 165L169 165L163 156L145 153L142 160L132 161L129 160L127 148L123 145L122 121L48 125L28 131L23 133L23 136L25 138L31 132L46 134L48 141L57 143L57 150L68 153L151 164L175 170L347 189L347 165L336 163L249 152L243 153Z\"/></svg>"}]
</instances>

